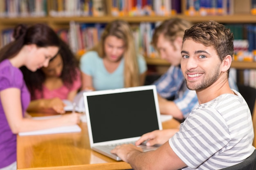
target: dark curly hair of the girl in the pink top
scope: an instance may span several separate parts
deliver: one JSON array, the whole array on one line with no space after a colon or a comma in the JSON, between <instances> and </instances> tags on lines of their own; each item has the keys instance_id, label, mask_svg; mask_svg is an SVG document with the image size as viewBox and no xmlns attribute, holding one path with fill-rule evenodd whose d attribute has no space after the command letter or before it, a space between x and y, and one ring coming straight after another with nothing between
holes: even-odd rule
<instances>
[{"instance_id":1,"label":"dark curly hair of the girl in the pink top","mask_svg":"<svg viewBox=\"0 0 256 170\"><path fill-rule=\"evenodd\" d=\"M63 60L63 70L61 73L61 80L63 81L63 84L67 86L67 88L71 87L73 82L76 80L77 77L77 70L78 67L78 60L72 53L70 47L63 41L60 41L60 50L58 54L61 55L61 58ZM50 62L53 60L52 58ZM45 82L45 74L41 69L38 69L35 72L30 71L25 66L21 67L20 70L22 71L24 75L24 79L26 82L26 85L29 89L29 92L31 94L31 99L34 99L34 92L35 90L42 91L43 90L43 82ZM43 98L43 94L42 98Z\"/></svg>"}]
</instances>

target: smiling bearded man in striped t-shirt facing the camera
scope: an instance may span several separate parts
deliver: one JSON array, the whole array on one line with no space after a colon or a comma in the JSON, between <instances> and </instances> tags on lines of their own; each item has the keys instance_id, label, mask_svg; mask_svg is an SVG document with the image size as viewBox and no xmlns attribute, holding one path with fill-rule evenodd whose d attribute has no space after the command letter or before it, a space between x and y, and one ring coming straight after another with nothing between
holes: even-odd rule
<instances>
[{"instance_id":1,"label":"smiling bearded man in striped t-shirt facing the camera","mask_svg":"<svg viewBox=\"0 0 256 170\"><path fill-rule=\"evenodd\" d=\"M215 21L195 24L183 37L181 68L186 86L195 90L199 106L180 130L157 150L134 145L112 153L135 170L216 170L252 155L252 117L243 97L229 87L234 36Z\"/></svg>"}]
</instances>

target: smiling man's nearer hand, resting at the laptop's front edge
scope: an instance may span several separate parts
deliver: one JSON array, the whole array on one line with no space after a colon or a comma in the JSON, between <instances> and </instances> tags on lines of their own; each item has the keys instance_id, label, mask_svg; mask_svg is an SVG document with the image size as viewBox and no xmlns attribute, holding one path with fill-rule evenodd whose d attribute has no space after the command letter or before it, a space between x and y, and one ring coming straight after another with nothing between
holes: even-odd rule
<instances>
[{"instance_id":1,"label":"smiling man's nearer hand, resting at the laptop's front edge","mask_svg":"<svg viewBox=\"0 0 256 170\"><path fill-rule=\"evenodd\" d=\"M110 152L116 154L123 161L128 162L128 153L129 155L132 155L132 152L142 152L142 149L132 144L124 144L116 146L115 149Z\"/></svg>"}]
</instances>

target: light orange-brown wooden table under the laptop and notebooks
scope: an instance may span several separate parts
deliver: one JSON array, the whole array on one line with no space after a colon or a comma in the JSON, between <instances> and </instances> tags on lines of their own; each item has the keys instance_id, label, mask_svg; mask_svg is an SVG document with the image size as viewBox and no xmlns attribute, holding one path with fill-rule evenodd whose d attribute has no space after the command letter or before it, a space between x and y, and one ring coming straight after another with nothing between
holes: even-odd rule
<instances>
[{"instance_id":1,"label":"light orange-brown wooden table under the laptop and notebooks","mask_svg":"<svg viewBox=\"0 0 256 170\"><path fill-rule=\"evenodd\" d=\"M163 128L177 128L180 123L171 119ZM52 135L17 135L18 170L124 170L130 164L115 161L90 149L86 123L82 131Z\"/></svg>"}]
</instances>

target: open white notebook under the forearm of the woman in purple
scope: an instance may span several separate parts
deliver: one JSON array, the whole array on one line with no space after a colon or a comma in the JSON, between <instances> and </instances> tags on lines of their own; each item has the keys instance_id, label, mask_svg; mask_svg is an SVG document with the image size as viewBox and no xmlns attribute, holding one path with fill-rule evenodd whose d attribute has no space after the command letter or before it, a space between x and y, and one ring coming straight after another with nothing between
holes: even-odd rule
<instances>
[{"instance_id":1,"label":"open white notebook under the forearm of the woman in purple","mask_svg":"<svg viewBox=\"0 0 256 170\"><path fill-rule=\"evenodd\" d=\"M58 117L61 117L61 115L32 117L32 119L43 120L43 119L54 119L54 118L58 118ZM60 126L60 127L56 127L56 128L48 128L48 129L43 129L43 130L20 132L20 133L18 133L18 135L20 135L20 136L47 135L47 134L71 133L71 132L81 132L81 128L76 124L76 125L70 125L70 126Z\"/></svg>"}]
</instances>

